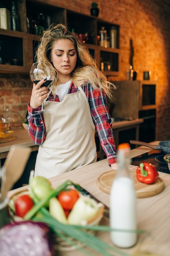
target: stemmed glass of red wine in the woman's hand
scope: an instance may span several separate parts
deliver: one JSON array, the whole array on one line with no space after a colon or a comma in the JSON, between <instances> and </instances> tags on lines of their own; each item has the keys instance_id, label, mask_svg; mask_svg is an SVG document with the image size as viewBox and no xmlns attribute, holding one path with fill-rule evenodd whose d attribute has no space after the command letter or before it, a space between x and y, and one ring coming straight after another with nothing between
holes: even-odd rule
<instances>
[{"instance_id":1,"label":"stemmed glass of red wine in the woman's hand","mask_svg":"<svg viewBox=\"0 0 170 256\"><path fill-rule=\"evenodd\" d=\"M46 79L43 85L40 86L49 86L54 80L54 70L52 69L52 65L48 62L35 62L33 63L30 70L30 78L33 83L37 84L42 79ZM47 98L46 98L47 99ZM46 101L46 99L44 101ZM44 101L41 104L41 110L35 112L45 112L44 109Z\"/></svg>"}]
</instances>

